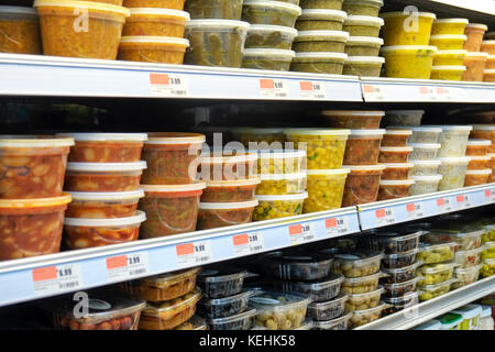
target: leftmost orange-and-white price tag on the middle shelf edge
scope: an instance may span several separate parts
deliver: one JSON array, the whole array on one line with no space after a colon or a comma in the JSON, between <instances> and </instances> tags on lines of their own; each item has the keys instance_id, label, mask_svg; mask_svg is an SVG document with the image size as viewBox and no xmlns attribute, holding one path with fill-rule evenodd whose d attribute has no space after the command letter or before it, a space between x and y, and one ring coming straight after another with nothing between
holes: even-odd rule
<instances>
[{"instance_id":1,"label":"leftmost orange-and-white price tag on the middle shelf edge","mask_svg":"<svg viewBox=\"0 0 495 352\"><path fill-rule=\"evenodd\" d=\"M33 268L35 294L56 294L61 290L77 289L82 286L79 264L62 264Z\"/></svg>"}]
</instances>

